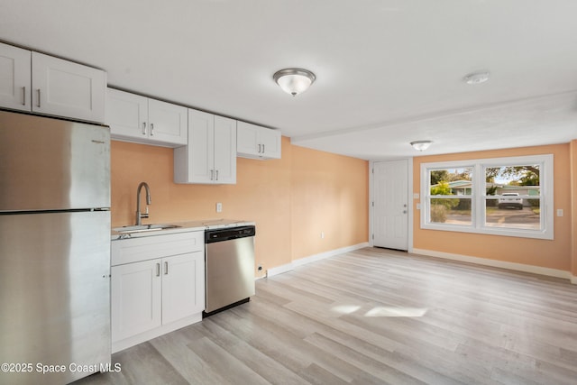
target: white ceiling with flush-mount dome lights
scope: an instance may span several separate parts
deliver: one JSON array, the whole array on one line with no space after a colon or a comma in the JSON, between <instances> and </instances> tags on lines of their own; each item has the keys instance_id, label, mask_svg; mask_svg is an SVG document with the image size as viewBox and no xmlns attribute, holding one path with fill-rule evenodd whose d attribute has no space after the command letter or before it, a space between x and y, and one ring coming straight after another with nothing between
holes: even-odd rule
<instances>
[{"instance_id":1,"label":"white ceiling with flush-mount dome lights","mask_svg":"<svg viewBox=\"0 0 577 385\"><path fill-rule=\"evenodd\" d=\"M577 139L575 0L0 0L0 40L362 159ZM316 74L292 97L279 69ZM471 86L463 76L490 71Z\"/></svg>"}]
</instances>

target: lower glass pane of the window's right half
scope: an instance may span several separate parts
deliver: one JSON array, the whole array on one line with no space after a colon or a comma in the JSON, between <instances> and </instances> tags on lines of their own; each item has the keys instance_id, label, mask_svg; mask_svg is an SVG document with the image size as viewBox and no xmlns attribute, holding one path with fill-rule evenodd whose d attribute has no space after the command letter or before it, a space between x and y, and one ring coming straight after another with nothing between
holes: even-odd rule
<instances>
[{"instance_id":1,"label":"lower glass pane of the window's right half","mask_svg":"<svg viewBox=\"0 0 577 385\"><path fill-rule=\"evenodd\" d=\"M522 206L502 206L498 204L500 200L494 198L486 200L486 226L528 230L541 228L539 199L521 199Z\"/></svg>"}]
</instances>

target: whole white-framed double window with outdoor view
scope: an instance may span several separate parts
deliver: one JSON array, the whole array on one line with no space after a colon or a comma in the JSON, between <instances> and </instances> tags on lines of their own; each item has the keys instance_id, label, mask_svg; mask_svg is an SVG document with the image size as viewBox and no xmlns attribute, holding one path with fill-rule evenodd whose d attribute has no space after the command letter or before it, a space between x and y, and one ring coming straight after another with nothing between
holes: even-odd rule
<instances>
[{"instance_id":1,"label":"whole white-framed double window with outdoor view","mask_svg":"<svg viewBox=\"0 0 577 385\"><path fill-rule=\"evenodd\" d=\"M421 228L553 239L553 155L421 165Z\"/></svg>"}]
</instances>

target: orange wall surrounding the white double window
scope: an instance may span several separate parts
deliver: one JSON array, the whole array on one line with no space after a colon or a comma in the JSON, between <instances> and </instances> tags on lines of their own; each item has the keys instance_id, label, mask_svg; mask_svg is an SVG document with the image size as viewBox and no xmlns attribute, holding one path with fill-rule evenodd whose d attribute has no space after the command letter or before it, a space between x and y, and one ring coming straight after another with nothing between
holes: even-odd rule
<instances>
[{"instance_id":1,"label":"orange wall surrounding the white double window","mask_svg":"<svg viewBox=\"0 0 577 385\"><path fill-rule=\"evenodd\" d=\"M564 211L563 217L554 216L554 240L424 230L420 228L420 212L414 206L414 247L428 251L571 270L572 183L569 144L417 157L413 161L414 192L420 193L421 163L548 153L554 154L554 210L556 212L556 209L563 208ZM418 201L415 200L413 203L417 205Z\"/></svg>"}]
</instances>

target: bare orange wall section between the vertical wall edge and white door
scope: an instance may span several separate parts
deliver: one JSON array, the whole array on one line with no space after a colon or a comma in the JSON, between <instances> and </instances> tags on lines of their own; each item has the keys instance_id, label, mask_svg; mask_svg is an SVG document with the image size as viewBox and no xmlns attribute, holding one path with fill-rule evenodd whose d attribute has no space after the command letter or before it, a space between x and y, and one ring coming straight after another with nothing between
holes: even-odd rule
<instances>
[{"instance_id":1,"label":"bare orange wall section between the vertical wall edge and white door","mask_svg":"<svg viewBox=\"0 0 577 385\"><path fill-rule=\"evenodd\" d=\"M294 258L368 242L368 162L298 146L292 154Z\"/></svg>"}]
</instances>

